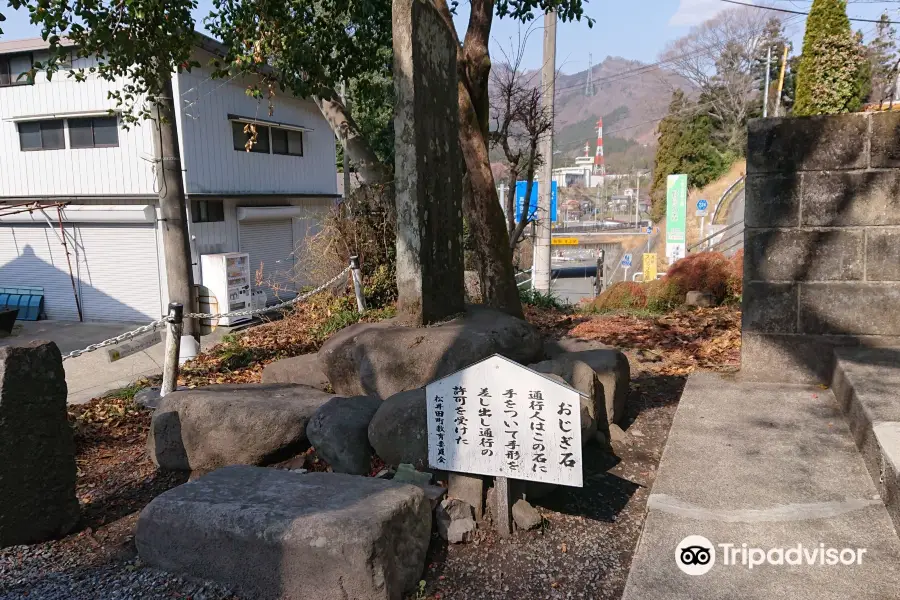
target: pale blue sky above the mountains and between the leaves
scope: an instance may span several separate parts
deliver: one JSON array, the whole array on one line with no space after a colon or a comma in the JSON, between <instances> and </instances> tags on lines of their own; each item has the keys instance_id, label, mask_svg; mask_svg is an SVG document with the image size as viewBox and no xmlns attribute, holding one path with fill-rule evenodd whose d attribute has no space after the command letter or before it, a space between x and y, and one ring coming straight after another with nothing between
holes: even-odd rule
<instances>
[{"instance_id":1,"label":"pale blue sky above the mountains and between the leaves","mask_svg":"<svg viewBox=\"0 0 900 600\"><path fill-rule=\"evenodd\" d=\"M763 2L757 0L760 4ZM5 4L4 0L0 3ZM768 4L791 10L808 10L809 0L769 0ZM208 14L209 0L200 0L195 14L198 19ZM585 14L596 23L589 28L584 22L560 23L557 27L556 64L563 72L574 73L587 68L588 55L593 55L594 64L607 56L622 56L644 62L653 62L666 43L684 35L691 26L702 23L719 11L732 5L721 0L588 0ZM896 2L871 3L850 0L848 14L864 18L877 18L884 8L891 9L892 19L900 21L900 11ZM7 20L2 24L5 40L39 35L39 30L28 23L24 11L2 9ZM466 0L460 3L457 27L465 30L468 18ZM785 15L787 17L788 15ZM541 64L542 19L535 24L535 31L528 38L525 67L537 68ZM854 27L870 31L872 24L855 23ZM492 32L492 56L500 59L500 46L508 48L510 39L516 38L520 26L509 19L495 20ZM802 39L802 22L797 22L791 33L795 48L799 50Z\"/></svg>"}]
</instances>

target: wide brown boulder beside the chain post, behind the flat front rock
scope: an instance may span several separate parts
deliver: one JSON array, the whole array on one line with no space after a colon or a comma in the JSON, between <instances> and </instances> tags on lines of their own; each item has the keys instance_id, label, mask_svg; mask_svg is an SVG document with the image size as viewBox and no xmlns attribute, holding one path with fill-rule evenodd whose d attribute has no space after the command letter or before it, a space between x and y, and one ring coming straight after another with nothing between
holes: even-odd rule
<instances>
[{"instance_id":1,"label":"wide brown boulder beside the chain post, behind the flat front rock","mask_svg":"<svg viewBox=\"0 0 900 600\"><path fill-rule=\"evenodd\" d=\"M173 392L153 413L147 440L159 467L208 471L265 465L309 447L306 427L326 394L304 385L211 385Z\"/></svg>"}]
</instances>

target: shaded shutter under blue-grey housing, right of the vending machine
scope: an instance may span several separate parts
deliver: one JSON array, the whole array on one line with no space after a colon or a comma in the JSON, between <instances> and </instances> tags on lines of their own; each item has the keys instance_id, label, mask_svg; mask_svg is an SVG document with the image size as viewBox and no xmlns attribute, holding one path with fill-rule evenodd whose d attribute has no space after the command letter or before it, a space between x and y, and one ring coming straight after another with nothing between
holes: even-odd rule
<instances>
[{"instance_id":1,"label":"shaded shutter under blue-grey housing, right of the vending machine","mask_svg":"<svg viewBox=\"0 0 900 600\"><path fill-rule=\"evenodd\" d=\"M241 252L250 255L253 289L265 290L269 300L293 297L297 286L294 282L294 227L291 219L241 221L240 234Z\"/></svg>"}]
</instances>

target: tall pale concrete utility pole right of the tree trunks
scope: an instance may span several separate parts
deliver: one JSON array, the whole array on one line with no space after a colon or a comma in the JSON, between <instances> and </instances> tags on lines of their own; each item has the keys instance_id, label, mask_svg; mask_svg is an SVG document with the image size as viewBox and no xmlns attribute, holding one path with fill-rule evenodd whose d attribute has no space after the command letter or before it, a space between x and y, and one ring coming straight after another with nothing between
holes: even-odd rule
<instances>
[{"instance_id":1,"label":"tall pale concrete utility pole right of the tree trunks","mask_svg":"<svg viewBox=\"0 0 900 600\"><path fill-rule=\"evenodd\" d=\"M544 64L541 67L543 105L554 119L553 100L556 94L556 11L544 14ZM532 287L550 292L550 194L553 190L553 128L541 140L541 178L538 182L538 222L534 240L534 260L531 271Z\"/></svg>"}]
</instances>

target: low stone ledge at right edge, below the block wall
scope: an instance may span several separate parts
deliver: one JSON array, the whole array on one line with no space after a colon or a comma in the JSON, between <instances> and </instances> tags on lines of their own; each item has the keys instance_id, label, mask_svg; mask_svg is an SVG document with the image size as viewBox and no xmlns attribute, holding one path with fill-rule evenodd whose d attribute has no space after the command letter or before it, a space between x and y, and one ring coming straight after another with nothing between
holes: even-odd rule
<instances>
[{"instance_id":1,"label":"low stone ledge at right edge, below the block wall","mask_svg":"<svg viewBox=\"0 0 900 600\"><path fill-rule=\"evenodd\" d=\"M900 348L835 350L834 395L900 531Z\"/></svg>"}]
</instances>

